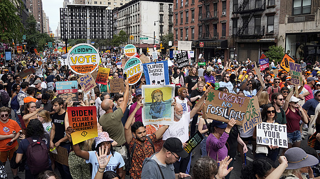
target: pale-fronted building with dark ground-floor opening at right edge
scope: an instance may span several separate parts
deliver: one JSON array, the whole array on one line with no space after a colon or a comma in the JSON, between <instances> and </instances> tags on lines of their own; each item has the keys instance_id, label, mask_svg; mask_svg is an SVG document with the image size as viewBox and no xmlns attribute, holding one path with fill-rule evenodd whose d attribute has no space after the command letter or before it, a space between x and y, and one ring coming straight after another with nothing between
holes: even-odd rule
<instances>
[{"instance_id":1,"label":"pale-fronted building with dark ground-floor opening at right edge","mask_svg":"<svg viewBox=\"0 0 320 179\"><path fill-rule=\"evenodd\" d=\"M320 58L320 0L281 0L278 44L306 62Z\"/></svg>"}]
</instances>

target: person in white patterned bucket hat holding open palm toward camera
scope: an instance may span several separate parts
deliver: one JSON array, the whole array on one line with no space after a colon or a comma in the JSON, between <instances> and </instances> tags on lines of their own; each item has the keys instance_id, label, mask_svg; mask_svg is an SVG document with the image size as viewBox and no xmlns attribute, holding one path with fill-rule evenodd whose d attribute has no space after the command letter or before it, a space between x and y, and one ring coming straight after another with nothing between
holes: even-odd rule
<instances>
[{"instance_id":1,"label":"person in white patterned bucket hat holding open palm toward camera","mask_svg":"<svg viewBox=\"0 0 320 179\"><path fill-rule=\"evenodd\" d=\"M69 126L67 128L67 133L70 134L72 132L74 132L74 130ZM94 179L94 176L95 174L97 174L98 170L99 172L114 171L120 175L120 178L122 178L122 176L125 174L123 171L124 161L121 154L113 150L111 143L114 140L109 137L108 132L98 133L98 137L95 137L94 140L95 140L95 151L88 151L88 152L83 151L80 149L78 144L73 146L73 150L78 157L85 159L86 163L92 164L91 179ZM104 150L108 150L107 157L112 155L106 168L100 168L99 166L99 162L96 156L96 153L99 156L101 155L99 153L101 151L99 150L99 148L104 148Z\"/></svg>"}]
</instances>

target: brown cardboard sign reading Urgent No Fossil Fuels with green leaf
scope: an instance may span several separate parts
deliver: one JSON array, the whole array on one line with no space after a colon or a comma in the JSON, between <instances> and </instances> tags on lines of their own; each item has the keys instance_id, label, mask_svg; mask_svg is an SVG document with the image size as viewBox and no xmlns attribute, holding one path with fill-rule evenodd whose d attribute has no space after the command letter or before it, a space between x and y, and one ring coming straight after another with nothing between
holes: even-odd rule
<instances>
[{"instance_id":1,"label":"brown cardboard sign reading Urgent No Fossil Fuels with green leaf","mask_svg":"<svg viewBox=\"0 0 320 179\"><path fill-rule=\"evenodd\" d=\"M227 123L234 118L237 125L242 125L249 100L246 96L211 89L206 99L207 118Z\"/></svg>"}]
</instances>

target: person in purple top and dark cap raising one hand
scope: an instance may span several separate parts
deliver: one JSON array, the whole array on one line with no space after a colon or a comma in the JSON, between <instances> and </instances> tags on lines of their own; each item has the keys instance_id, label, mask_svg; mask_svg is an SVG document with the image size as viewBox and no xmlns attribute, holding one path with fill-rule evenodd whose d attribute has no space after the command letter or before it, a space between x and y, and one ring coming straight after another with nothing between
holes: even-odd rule
<instances>
[{"instance_id":1,"label":"person in purple top and dark cap raising one hand","mask_svg":"<svg viewBox=\"0 0 320 179\"><path fill-rule=\"evenodd\" d=\"M207 138L206 150L208 156L216 161L222 161L228 156L226 142L229 137L231 128L236 124L235 119L229 120L228 123L213 121L208 130L210 134Z\"/></svg>"}]
</instances>

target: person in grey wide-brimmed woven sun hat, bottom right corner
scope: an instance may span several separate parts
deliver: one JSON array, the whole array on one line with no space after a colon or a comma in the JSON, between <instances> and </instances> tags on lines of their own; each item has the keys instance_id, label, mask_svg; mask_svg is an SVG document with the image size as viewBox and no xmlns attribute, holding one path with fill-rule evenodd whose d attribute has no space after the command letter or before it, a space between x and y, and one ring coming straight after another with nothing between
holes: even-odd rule
<instances>
[{"instance_id":1,"label":"person in grey wide-brimmed woven sun hat, bottom right corner","mask_svg":"<svg viewBox=\"0 0 320 179\"><path fill-rule=\"evenodd\" d=\"M318 159L312 155L306 154L303 149L291 148L284 153L288 161L288 166L284 170L281 179L302 178L307 179L302 173L308 173L309 178L314 178L310 166L318 164Z\"/></svg>"}]
</instances>

